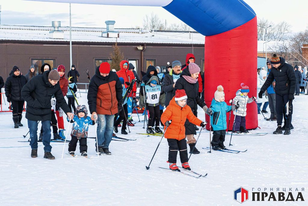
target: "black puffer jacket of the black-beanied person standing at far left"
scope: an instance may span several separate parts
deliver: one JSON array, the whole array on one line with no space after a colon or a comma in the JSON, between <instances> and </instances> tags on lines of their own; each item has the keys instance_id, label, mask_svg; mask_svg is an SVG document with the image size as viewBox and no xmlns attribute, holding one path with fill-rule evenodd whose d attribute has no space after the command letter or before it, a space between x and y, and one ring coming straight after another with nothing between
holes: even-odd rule
<instances>
[{"instance_id":1,"label":"black puffer jacket of the black-beanied person standing at far left","mask_svg":"<svg viewBox=\"0 0 308 206\"><path fill-rule=\"evenodd\" d=\"M19 74L16 76L12 74L6 79L4 90L6 97L9 97L11 101L23 101L21 96L22 87L27 83L25 76Z\"/></svg>"}]
</instances>

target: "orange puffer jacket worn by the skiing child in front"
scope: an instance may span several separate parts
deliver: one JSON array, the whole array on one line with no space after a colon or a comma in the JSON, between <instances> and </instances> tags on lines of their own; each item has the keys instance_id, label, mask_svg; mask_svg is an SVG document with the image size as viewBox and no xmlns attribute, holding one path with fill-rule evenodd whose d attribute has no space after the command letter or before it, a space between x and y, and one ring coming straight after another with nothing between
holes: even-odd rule
<instances>
[{"instance_id":1,"label":"orange puffer jacket worn by the skiing child in front","mask_svg":"<svg viewBox=\"0 0 308 206\"><path fill-rule=\"evenodd\" d=\"M161 115L160 120L164 124L166 121L172 120L165 132L165 138L181 140L185 138L184 123L186 119L198 126L200 126L202 121L193 115L192 109L189 106L185 105L184 107L180 107L177 105L174 98L175 97L171 99L170 104ZM166 128L166 126L164 128Z\"/></svg>"}]
</instances>

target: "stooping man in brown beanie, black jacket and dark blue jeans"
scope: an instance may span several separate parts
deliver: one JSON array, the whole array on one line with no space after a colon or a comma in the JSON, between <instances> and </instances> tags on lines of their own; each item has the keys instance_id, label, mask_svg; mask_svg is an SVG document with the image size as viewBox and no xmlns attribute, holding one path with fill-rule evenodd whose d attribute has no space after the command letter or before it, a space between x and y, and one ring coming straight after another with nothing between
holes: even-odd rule
<instances>
[{"instance_id":1,"label":"stooping man in brown beanie, black jacket and dark blue jeans","mask_svg":"<svg viewBox=\"0 0 308 206\"><path fill-rule=\"evenodd\" d=\"M43 145L44 158L55 159L51 154L51 98L55 96L57 103L67 114L69 119L73 118L58 83L60 75L57 70L46 71L43 75L38 75L32 78L22 88L22 98L27 102L26 119L30 129L30 146L31 157L36 158L38 149L38 121L41 121L43 126Z\"/></svg>"}]
</instances>

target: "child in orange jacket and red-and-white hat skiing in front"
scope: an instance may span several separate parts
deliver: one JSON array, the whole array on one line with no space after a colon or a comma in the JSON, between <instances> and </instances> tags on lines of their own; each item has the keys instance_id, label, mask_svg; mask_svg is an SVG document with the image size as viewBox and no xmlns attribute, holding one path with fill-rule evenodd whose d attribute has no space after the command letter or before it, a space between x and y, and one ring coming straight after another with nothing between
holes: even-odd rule
<instances>
[{"instance_id":1,"label":"child in orange jacket and red-and-white hat skiing in front","mask_svg":"<svg viewBox=\"0 0 308 206\"><path fill-rule=\"evenodd\" d=\"M182 167L186 170L190 170L190 166L187 162L188 154L185 140L184 123L186 119L193 124L200 125L202 128L205 127L206 124L193 115L191 108L186 105L186 100L187 95L185 90L176 90L175 96L171 99L168 107L160 117L161 122L165 125L164 136L167 138L169 145L168 162L170 170L179 170L179 167L176 166L178 150L180 150Z\"/></svg>"}]
</instances>

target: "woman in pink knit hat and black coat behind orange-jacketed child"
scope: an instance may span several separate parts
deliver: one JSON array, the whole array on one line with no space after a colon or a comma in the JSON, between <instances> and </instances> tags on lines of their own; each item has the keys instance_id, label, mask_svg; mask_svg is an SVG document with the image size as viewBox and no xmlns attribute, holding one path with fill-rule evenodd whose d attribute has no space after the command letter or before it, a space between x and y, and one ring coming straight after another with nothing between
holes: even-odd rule
<instances>
[{"instance_id":1,"label":"woman in pink knit hat and black coat behind orange-jacketed child","mask_svg":"<svg viewBox=\"0 0 308 206\"><path fill-rule=\"evenodd\" d=\"M211 112L211 108L208 109L205 102L201 100L198 95L199 84L198 75L200 73L200 68L195 63L190 63L188 69L184 69L180 74L180 78L176 81L173 96L176 90L184 89L187 95L187 105L192 109L193 114L197 116L197 105L199 105L206 113ZM193 137L196 133L195 125L190 123L188 120L185 122L185 135L187 137L187 143L190 147L189 153L199 154L198 149L193 147L196 144L196 139Z\"/></svg>"}]
</instances>

